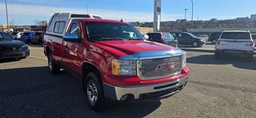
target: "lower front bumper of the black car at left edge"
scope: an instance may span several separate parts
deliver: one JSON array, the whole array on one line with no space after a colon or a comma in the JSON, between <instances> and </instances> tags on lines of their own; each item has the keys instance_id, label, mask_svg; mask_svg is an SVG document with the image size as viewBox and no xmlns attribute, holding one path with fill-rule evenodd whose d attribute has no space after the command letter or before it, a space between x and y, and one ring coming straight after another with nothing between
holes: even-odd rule
<instances>
[{"instance_id":1,"label":"lower front bumper of the black car at left edge","mask_svg":"<svg viewBox=\"0 0 256 118\"><path fill-rule=\"evenodd\" d=\"M30 56L30 49L24 51L0 51L0 59L15 58L15 57L28 57Z\"/></svg>"}]
</instances>

